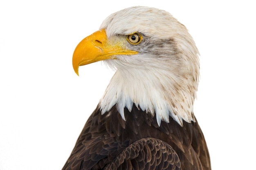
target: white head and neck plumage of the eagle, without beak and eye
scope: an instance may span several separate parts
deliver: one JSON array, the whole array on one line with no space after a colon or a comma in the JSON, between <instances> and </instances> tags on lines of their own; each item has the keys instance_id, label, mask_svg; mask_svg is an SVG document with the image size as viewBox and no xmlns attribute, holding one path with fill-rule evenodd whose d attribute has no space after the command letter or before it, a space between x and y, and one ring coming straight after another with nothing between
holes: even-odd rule
<instances>
[{"instance_id":1,"label":"white head and neck plumage of the eagle, without beak and eye","mask_svg":"<svg viewBox=\"0 0 256 170\"><path fill-rule=\"evenodd\" d=\"M195 121L193 102L199 79L198 49L186 27L170 13L150 7L130 7L106 18L100 29L108 39L122 42L136 55L116 55L105 60L116 69L100 101L102 114L115 104L122 118L124 108L133 103L141 110L156 114L157 123L173 117ZM139 33L142 40L132 45L126 36ZM113 97L114 96L114 97Z\"/></svg>"}]
</instances>

